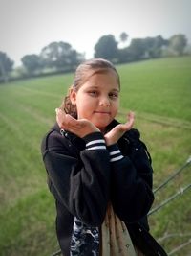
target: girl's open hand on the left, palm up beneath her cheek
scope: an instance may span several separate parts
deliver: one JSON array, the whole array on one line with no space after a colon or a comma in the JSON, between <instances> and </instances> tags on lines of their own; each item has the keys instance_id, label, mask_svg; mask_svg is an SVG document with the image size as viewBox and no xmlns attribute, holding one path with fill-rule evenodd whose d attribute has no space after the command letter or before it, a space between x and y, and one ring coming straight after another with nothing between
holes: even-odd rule
<instances>
[{"instance_id":1,"label":"girl's open hand on the left, palm up beneath her cheek","mask_svg":"<svg viewBox=\"0 0 191 256\"><path fill-rule=\"evenodd\" d=\"M92 124L87 119L75 119L69 114L66 114L60 108L55 109L56 112L56 121L60 128L73 132L80 138L84 136L100 131L94 124Z\"/></svg>"}]
</instances>

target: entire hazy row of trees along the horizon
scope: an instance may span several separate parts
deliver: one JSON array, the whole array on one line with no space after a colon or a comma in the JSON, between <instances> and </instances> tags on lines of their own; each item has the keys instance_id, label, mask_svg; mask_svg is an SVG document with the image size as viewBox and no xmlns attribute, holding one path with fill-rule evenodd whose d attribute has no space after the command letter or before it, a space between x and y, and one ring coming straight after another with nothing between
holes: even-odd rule
<instances>
[{"instance_id":1,"label":"entire hazy row of trees along the horizon","mask_svg":"<svg viewBox=\"0 0 191 256\"><path fill-rule=\"evenodd\" d=\"M142 59L163 58L190 54L185 51L188 40L185 35L172 35L164 39L155 37L133 38L128 46L128 35L122 32L117 41L114 35L101 36L94 47L94 58L106 58L115 64L128 63ZM85 60L85 55L78 53L68 42L52 42L45 46L39 55L25 55L21 58L22 67L19 78L71 72ZM13 60L0 51L0 81L7 82L11 78Z\"/></svg>"}]
</instances>

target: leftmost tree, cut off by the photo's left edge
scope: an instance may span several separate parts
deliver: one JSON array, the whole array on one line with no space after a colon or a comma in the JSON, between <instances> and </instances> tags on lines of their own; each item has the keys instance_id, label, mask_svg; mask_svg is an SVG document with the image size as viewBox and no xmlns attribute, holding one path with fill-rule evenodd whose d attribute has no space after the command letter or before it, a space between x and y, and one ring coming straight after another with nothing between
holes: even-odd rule
<instances>
[{"instance_id":1,"label":"leftmost tree, cut off by the photo's left edge","mask_svg":"<svg viewBox=\"0 0 191 256\"><path fill-rule=\"evenodd\" d=\"M6 53L0 52L0 81L9 81L9 73L12 70L13 63Z\"/></svg>"}]
</instances>

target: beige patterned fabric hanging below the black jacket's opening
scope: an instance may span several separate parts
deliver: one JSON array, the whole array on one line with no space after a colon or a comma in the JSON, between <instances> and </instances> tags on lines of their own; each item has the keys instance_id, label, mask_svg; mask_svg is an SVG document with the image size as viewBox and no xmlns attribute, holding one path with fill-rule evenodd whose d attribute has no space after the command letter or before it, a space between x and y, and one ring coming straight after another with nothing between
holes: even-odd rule
<instances>
[{"instance_id":1,"label":"beige patterned fabric hanging below the black jacket's opening","mask_svg":"<svg viewBox=\"0 0 191 256\"><path fill-rule=\"evenodd\" d=\"M114 213L112 204L108 205L101 226L101 256L143 256L134 247L125 223Z\"/></svg>"}]
</instances>

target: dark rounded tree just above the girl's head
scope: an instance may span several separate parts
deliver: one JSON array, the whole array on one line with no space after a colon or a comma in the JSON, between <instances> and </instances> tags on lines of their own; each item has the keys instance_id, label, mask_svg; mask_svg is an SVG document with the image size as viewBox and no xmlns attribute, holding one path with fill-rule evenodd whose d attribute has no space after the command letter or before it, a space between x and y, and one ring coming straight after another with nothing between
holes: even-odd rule
<instances>
[{"instance_id":1,"label":"dark rounded tree just above the girl's head","mask_svg":"<svg viewBox=\"0 0 191 256\"><path fill-rule=\"evenodd\" d=\"M103 35L95 45L95 58L117 60L117 41L114 35Z\"/></svg>"}]
</instances>

